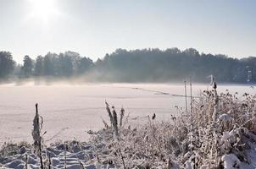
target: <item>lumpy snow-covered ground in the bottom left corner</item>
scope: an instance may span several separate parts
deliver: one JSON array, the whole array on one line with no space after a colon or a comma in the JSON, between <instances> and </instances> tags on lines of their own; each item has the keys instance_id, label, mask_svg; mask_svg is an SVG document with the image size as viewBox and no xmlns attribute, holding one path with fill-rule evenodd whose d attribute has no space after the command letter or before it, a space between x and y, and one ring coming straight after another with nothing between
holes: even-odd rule
<instances>
[{"instance_id":1,"label":"lumpy snow-covered ground in the bottom left corner","mask_svg":"<svg viewBox=\"0 0 256 169\"><path fill-rule=\"evenodd\" d=\"M39 168L39 158L33 154L31 149L25 149L20 147L15 155L6 155L5 158L0 158L0 168L25 168L25 156L27 155L27 165L29 168ZM64 168L66 165L68 169L80 169L81 164L87 169L106 168L107 164L97 162L95 148L86 142L79 143L77 141L69 142L69 150L64 152L64 143L52 144L47 147L47 150L43 150L43 157L51 156L51 164L53 168ZM66 160L65 160L66 159ZM95 165L93 165L95 163ZM111 168L111 167L109 167Z\"/></svg>"}]
</instances>

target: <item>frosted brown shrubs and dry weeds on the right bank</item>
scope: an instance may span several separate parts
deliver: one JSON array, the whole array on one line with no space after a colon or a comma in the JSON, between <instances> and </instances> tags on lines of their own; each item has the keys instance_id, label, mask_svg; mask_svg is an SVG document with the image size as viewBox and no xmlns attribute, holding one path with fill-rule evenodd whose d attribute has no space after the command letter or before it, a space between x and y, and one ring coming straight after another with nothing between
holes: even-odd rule
<instances>
[{"instance_id":1,"label":"frosted brown shrubs and dry weeds on the right bank","mask_svg":"<svg viewBox=\"0 0 256 169\"><path fill-rule=\"evenodd\" d=\"M99 131L94 139L105 143L103 150L109 152L109 159L116 159L115 165L123 168L256 165L246 153L256 140L256 97L244 94L238 100L237 95L228 90L218 95L214 83L213 90L203 91L200 99L192 101L189 116L181 112L168 122L148 117L140 127L122 125L118 140L112 128Z\"/></svg>"}]
</instances>

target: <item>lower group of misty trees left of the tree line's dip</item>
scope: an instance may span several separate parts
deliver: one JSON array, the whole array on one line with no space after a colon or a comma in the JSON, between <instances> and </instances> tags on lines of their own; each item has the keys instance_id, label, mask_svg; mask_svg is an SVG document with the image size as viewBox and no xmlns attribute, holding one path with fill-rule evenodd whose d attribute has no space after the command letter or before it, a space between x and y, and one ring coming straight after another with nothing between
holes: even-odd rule
<instances>
[{"instance_id":1,"label":"lower group of misty trees left of the tree line's dip","mask_svg":"<svg viewBox=\"0 0 256 169\"><path fill-rule=\"evenodd\" d=\"M0 52L0 78L59 77L67 78L86 73L94 63L77 52L52 53L32 59L25 56L23 64L16 64L10 52Z\"/></svg>"}]
</instances>

